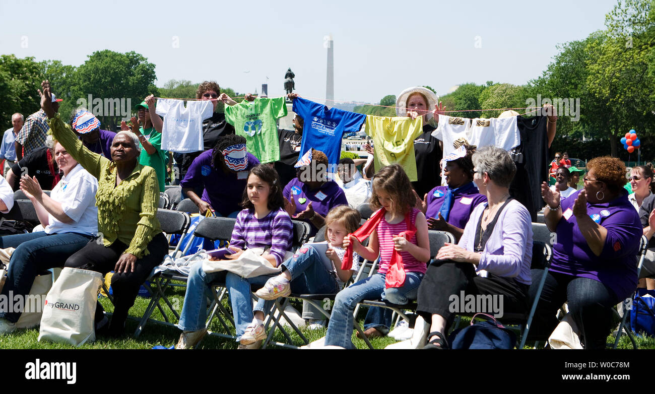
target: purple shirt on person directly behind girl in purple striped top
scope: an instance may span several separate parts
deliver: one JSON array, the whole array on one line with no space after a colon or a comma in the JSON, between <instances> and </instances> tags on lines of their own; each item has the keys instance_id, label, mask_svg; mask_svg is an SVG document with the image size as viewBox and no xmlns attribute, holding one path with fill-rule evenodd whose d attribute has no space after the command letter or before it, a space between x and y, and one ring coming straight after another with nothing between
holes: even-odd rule
<instances>
[{"instance_id":1,"label":"purple shirt on person directly behind girl in purple striped top","mask_svg":"<svg viewBox=\"0 0 655 394\"><path fill-rule=\"evenodd\" d=\"M200 199L209 203L221 216L227 216L242 209L239 204L248 183L248 171L257 166L259 160L252 154L246 153L248 156L246 170L224 173L212 167L212 152L213 149L204 151L196 157L179 185L183 188L204 187Z\"/></svg>"}]
</instances>

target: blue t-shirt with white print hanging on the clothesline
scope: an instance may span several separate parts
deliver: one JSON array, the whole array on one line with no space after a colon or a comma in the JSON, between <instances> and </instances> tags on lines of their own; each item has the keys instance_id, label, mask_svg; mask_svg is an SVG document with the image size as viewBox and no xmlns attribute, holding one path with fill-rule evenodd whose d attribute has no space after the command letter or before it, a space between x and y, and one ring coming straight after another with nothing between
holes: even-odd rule
<instances>
[{"instance_id":1,"label":"blue t-shirt with white print hanging on the clothesline","mask_svg":"<svg viewBox=\"0 0 655 394\"><path fill-rule=\"evenodd\" d=\"M305 120L300 157L313 148L324 152L329 164L339 163L343 134L360 131L366 120L364 114L328 109L325 105L300 97L293 100L293 112Z\"/></svg>"}]
</instances>

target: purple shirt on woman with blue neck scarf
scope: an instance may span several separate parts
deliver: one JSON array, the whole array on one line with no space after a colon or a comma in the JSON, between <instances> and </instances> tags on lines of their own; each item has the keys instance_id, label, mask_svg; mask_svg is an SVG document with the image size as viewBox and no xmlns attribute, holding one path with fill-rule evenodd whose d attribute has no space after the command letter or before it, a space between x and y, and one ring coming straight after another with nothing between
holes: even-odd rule
<instances>
[{"instance_id":1,"label":"purple shirt on woman with blue neck scarf","mask_svg":"<svg viewBox=\"0 0 655 394\"><path fill-rule=\"evenodd\" d=\"M443 206L443 200L445 200L445 194L448 190L448 187L438 186L433 188L428 192L428 209L425 212L425 217L434 217L438 219L439 210ZM453 224L457 228L466 227L468 223L468 218L471 216L473 209L480 204L481 202L487 201L487 196L479 194L477 188L471 188L470 190L455 196L455 204L451 208L450 214L448 215L447 222Z\"/></svg>"}]
</instances>

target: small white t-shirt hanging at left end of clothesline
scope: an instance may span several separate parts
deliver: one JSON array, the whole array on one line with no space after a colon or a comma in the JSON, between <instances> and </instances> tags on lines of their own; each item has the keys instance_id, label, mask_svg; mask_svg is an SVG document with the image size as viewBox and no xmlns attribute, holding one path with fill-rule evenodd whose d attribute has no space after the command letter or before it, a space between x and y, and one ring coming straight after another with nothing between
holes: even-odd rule
<instances>
[{"instance_id":1,"label":"small white t-shirt hanging at left end of clothesline","mask_svg":"<svg viewBox=\"0 0 655 394\"><path fill-rule=\"evenodd\" d=\"M214 114L211 100L157 99L157 115L164 116L162 151L179 153L204 151L202 121Z\"/></svg>"}]
</instances>

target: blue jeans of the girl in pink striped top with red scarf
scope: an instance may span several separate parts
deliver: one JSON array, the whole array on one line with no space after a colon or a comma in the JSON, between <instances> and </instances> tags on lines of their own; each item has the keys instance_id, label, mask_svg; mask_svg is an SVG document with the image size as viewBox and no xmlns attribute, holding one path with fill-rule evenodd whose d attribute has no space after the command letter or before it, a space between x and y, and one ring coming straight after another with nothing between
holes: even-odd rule
<instances>
[{"instance_id":1,"label":"blue jeans of the girl in pink striped top with red scarf","mask_svg":"<svg viewBox=\"0 0 655 394\"><path fill-rule=\"evenodd\" d=\"M422 278L419 272L407 272L403 287L384 289L384 274L375 274L343 289L335 298L325 344L353 349L350 338L355 306L362 300L379 298L393 304L406 304L409 299L416 298Z\"/></svg>"}]
</instances>

